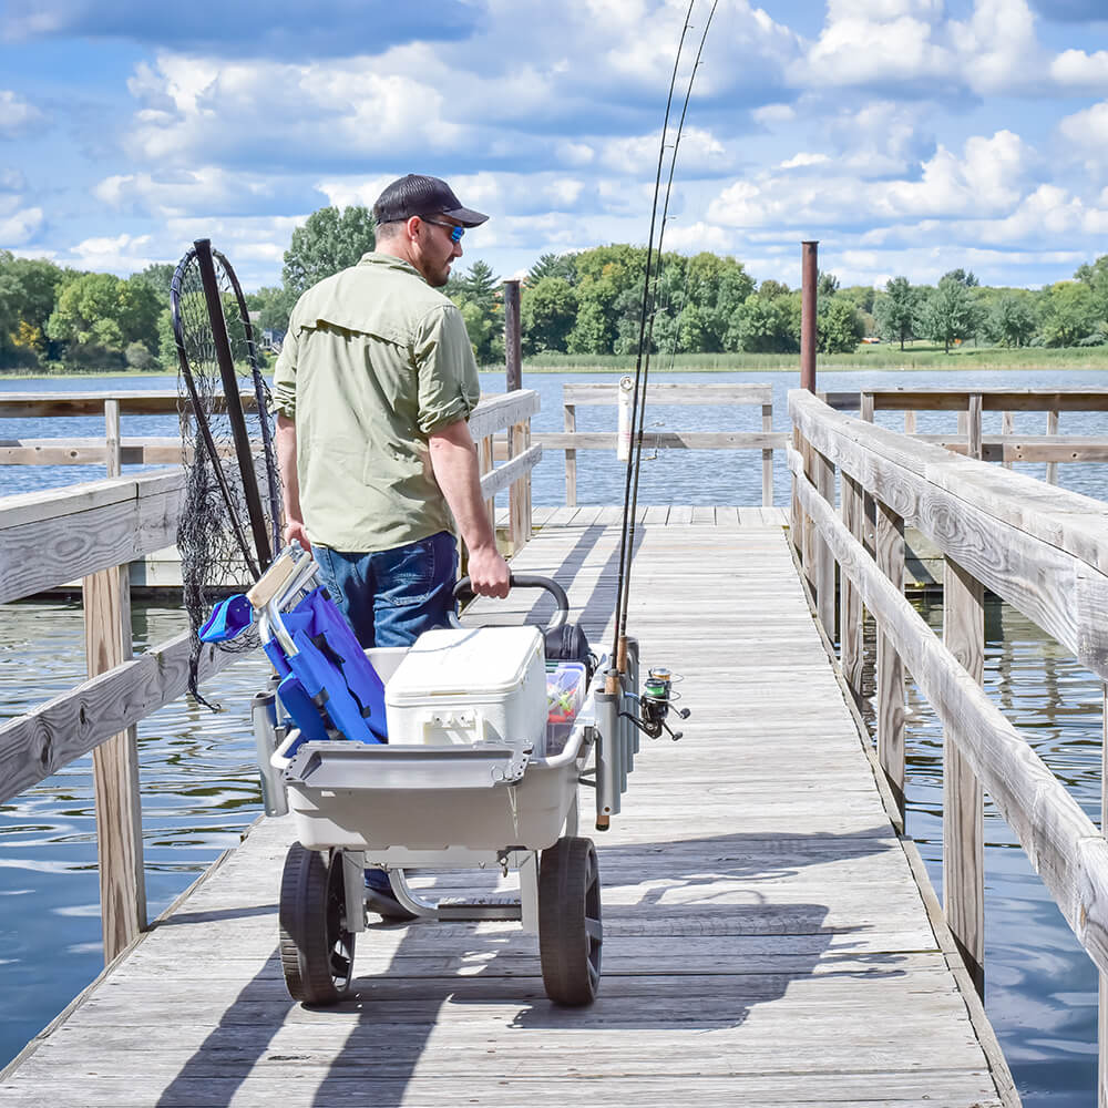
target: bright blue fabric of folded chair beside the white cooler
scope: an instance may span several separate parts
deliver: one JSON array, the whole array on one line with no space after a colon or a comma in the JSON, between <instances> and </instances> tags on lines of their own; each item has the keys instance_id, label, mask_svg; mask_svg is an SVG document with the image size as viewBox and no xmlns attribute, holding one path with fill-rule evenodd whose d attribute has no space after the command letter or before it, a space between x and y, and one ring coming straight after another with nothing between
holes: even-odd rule
<instances>
[{"instance_id":1,"label":"bright blue fabric of folded chair beside the white cooler","mask_svg":"<svg viewBox=\"0 0 1108 1108\"><path fill-rule=\"evenodd\" d=\"M326 589L312 589L281 619L298 653L287 656L276 637L263 648L301 740L388 742L384 684Z\"/></svg>"}]
</instances>

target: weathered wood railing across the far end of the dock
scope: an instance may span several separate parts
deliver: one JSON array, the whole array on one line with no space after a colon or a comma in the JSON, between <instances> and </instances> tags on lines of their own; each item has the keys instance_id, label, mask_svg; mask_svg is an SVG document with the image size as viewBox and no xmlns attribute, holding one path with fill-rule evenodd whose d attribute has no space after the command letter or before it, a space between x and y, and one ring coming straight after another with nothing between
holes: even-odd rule
<instances>
[{"instance_id":1,"label":"weathered wood railing across the far end of the dock","mask_svg":"<svg viewBox=\"0 0 1108 1108\"><path fill-rule=\"evenodd\" d=\"M615 450L615 431L578 431L577 408L585 404L614 407L619 384L566 384L562 390L564 432L536 432L534 441L548 450L565 451L565 502L577 503L577 451ZM644 431L649 450L760 450L762 452L762 506L773 504L773 451L784 449L788 437L773 432L773 389L769 384L658 384L649 387L649 403L756 404L762 410L761 431Z\"/></svg>"}]
</instances>

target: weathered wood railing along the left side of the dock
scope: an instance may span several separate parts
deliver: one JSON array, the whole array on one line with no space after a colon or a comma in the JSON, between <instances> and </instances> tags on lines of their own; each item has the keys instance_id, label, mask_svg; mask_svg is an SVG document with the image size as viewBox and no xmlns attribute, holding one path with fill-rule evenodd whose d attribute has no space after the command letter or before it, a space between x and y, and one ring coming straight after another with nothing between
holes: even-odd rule
<instances>
[{"instance_id":1,"label":"weathered wood railing along the left side of the dock","mask_svg":"<svg viewBox=\"0 0 1108 1108\"><path fill-rule=\"evenodd\" d=\"M103 397L99 410L112 400L116 414L127 410L120 398ZM488 440L505 428L526 428L537 410L537 393L506 393L482 401L470 428ZM131 656L126 564L175 541L184 475L177 469L119 476L119 441L110 431L105 458L115 475L106 481L0 499L0 604L82 579L89 668L88 681L0 725L0 803L93 752L105 962L146 925L135 728L185 691L189 652L185 633ZM519 545L531 535L530 501L521 490L541 456L541 447L527 447L481 479L490 500L511 488ZM201 679L237 657L206 647Z\"/></svg>"}]
</instances>

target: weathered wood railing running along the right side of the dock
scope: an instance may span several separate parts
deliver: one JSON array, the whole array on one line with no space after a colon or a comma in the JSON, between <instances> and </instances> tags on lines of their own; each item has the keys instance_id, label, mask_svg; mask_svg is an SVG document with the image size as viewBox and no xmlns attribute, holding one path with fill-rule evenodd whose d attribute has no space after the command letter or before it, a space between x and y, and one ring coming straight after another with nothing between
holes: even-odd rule
<instances>
[{"instance_id":1,"label":"weathered wood railing running along the right side of the dock","mask_svg":"<svg viewBox=\"0 0 1108 1108\"><path fill-rule=\"evenodd\" d=\"M901 801L904 668L944 728L943 896L966 964L981 986L984 789L1100 970L1104 1105L1108 842L981 681L984 588L1108 679L1108 504L852 419L807 392L789 394L789 412L793 541L831 638L838 566L841 666L856 698L863 606L876 624L878 759ZM874 504L872 533L864 497ZM903 595L905 522L945 558L942 642Z\"/></svg>"}]
</instances>

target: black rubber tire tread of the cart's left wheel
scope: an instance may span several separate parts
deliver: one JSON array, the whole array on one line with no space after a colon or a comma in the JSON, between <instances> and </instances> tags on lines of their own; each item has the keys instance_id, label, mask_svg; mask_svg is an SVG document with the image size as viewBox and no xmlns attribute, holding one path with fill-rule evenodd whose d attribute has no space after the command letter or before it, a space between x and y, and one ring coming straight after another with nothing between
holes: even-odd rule
<instances>
[{"instance_id":1,"label":"black rubber tire tread of the cart's left wheel","mask_svg":"<svg viewBox=\"0 0 1108 1108\"><path fill-rule=\"evenodd\" d=\"M341 865L341 859L338 860ZM318 851L295 842L281 873L280 963L289 996L304 1004L335 1004L347 993L331 976L327 935L328 862ZM350 935L353 960L355 936Z\"/></svg>"}]
</instances>

